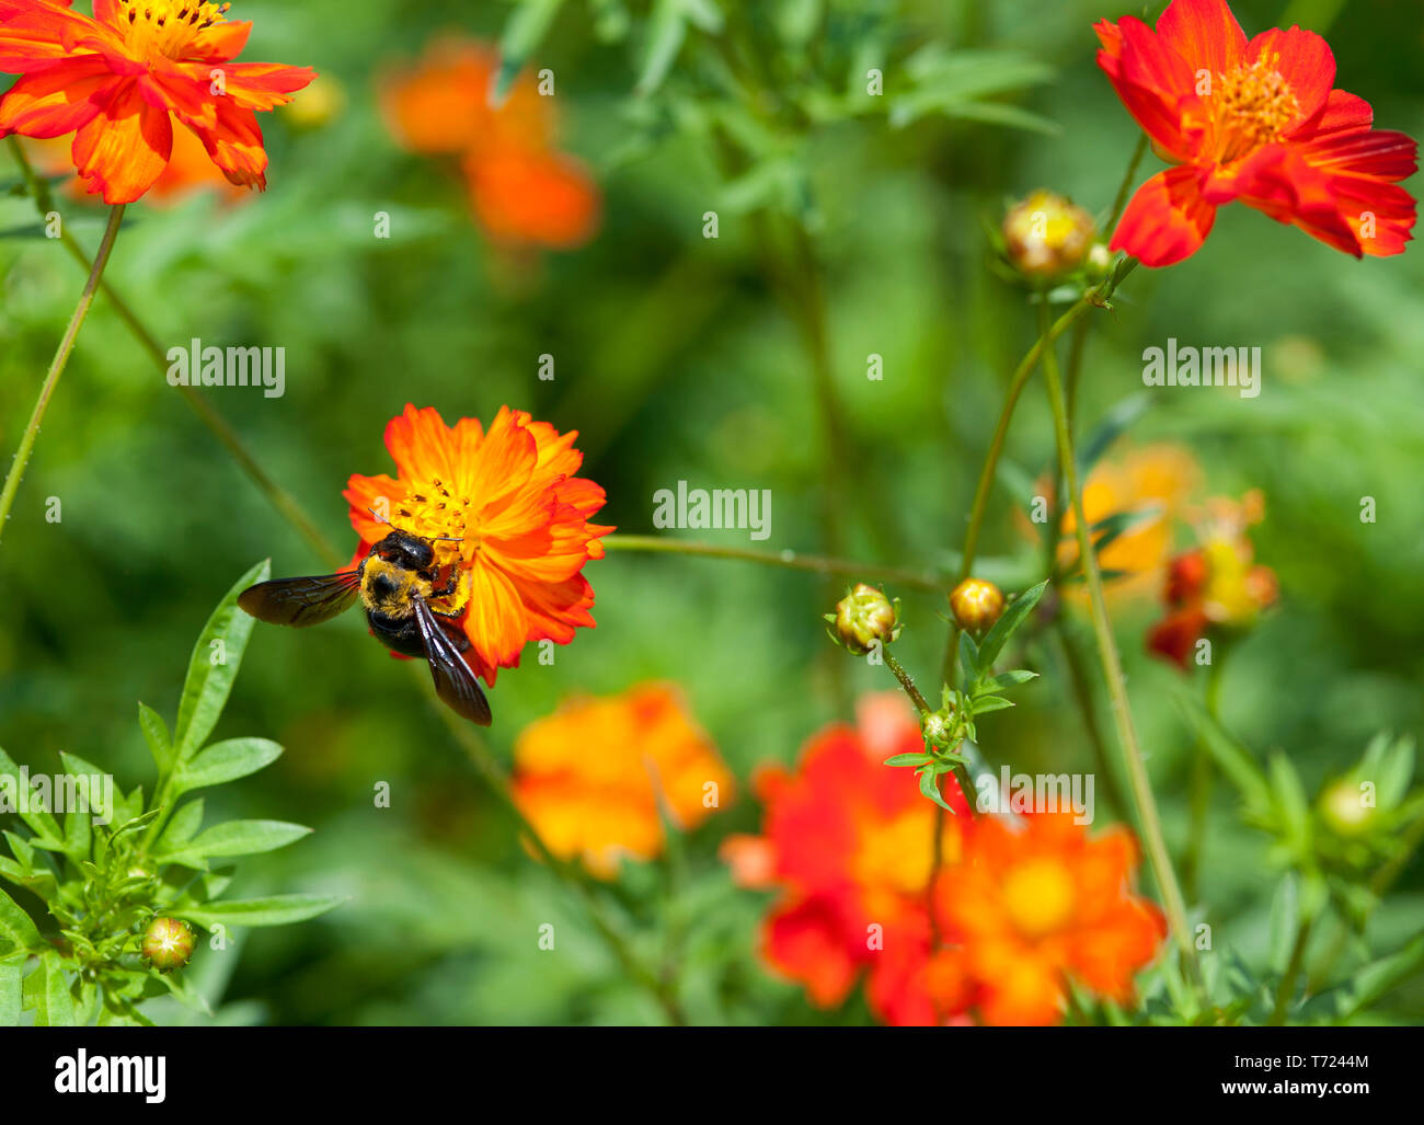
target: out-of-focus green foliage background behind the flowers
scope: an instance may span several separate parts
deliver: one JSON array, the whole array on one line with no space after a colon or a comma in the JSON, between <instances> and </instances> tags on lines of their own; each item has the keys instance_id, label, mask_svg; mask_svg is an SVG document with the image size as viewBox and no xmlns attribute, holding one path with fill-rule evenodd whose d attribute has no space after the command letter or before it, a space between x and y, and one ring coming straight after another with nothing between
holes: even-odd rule
<instances>
[{"instance_id":1,"label":"out-of-focus green foliage background behind the flowers","mask_svg":"<svg viewBox=\"0 0 1424 1125\"><path fill-rule=\"evenodd\" d=\"M594 6L598 7L598 6ZM609 4L605 7L617 7ZM641 11L644 6L632 6ZM736 3L723 7L740 11ZM766 11L762 11L762 9ZM746 4L763 26L780 4ZM793 6L785 6L793 7ZM604 523L651 531L652 494L693 487L772 491L770 550L951 570L1008 372L1032 342L1024 295L985 268L985 221L1038 185L1105 214L1136 128L1094 64L1096 19L1112 4L978 0L833 3L839 38L787 48L779 94L843 90L864 46L857 11L891 26L893 58L940 41L1004 48L1042 64L1001 100L1058 130L1037 132L930 112L903 128L883 114L827 114L786 151L827 302L829 357L852 446L833 500L817 397L796 322L769 268L743 182L729 191L716 150L695 127L703 56L696 33L666 85L639 103L629 46L602 41L591 9L565 6L534 56L554 68L562 144L594 169L604 219L584 249L491 252L457 181L400 151L376 101L382 68L417 56L441 30L497 38L508 9L366 0L244 3L245 58L310 64L339 80L346 105L320 128L263 115L272 165L265 197L221 206L199 195L159 211L130 208L110 282L164 346L286 347L286 393L205 394L266 470L345 551L355 547L340 490L383 473L382 430L407 402L447 422L501 404L577 429L584 476L602 484ZM1265 3L1235 10L1247 33L1300 21L1329 30L1337 85L1366 97L1376 122L1424 135L1424 13L1394 0ZM879 13L879 16L876 14ZM856 16L860 19L860 16ZM1329 28L1327 28L1329 24ZM800 85L797 85L800 84ZM887 71L887 85L894 78ZM3 151L3 150L0 150ZM11 175L0 157L0 178ZM1155 169L1149 157L1138 179ZM773 201L775 206L775 201ZM66 204L93 248L98 209ZM721 236L702 236L716 209ZM373 216L392 238L373 238ZM83 282L64 251L16 228L24 198L0 199L0 439L11 450ZM782 244L775 244L782 245ZM773 263L775 265L775 263ZM795 271L796 262L783 262ZM1210 493L1260 487L1267 516L1257 560L1282 604L1233 655L1226 723L1260 750L1283 748L1307 785L1343 772L1370 735L1424 729L1424 258L1354 262L1242 206L1220 214L1206 248L1171 272L1139 271L1099 318L1079 417L1091 427L1141 392L1141 350L1183 343L1265 349L1265 389L1158 392L1132 440L1172 439L1200 459ZM537 377L553 353L557 376ZM866 377L866 356L884 377ZM1037 476L1052 454L1041 382L1031 383L1008 459ZM60 497L63 521L47 523ZM1361 524L1373 496L1378 521ZM708 533L749 545L745 533ZM983 551L1031 560L1000 490ZM320 560L265 503L100 299L50 406L0 553L0 745L33 769L58 750L132 785L151 763L135 701L171 718L188 651L206 614L253 561L278 575ZM698 721L743 780L759 762L795 760L802 742L844 718L881 669L833 649L819 614L837 582L742 562L609 553L587 577L598 628L527 654L491 692L490 739L514 736L574 691L612 692L646 678L684 685ZM943 598L904 597L901 659L931 681L944 644ZM1171 842L1185 823L1193 736L1171 705L1175 669L1151 661L1153 608L1118 615L1129 686ZM879 675L877 675L879 672ZM241 864L239 893L320 890L352 901L316 921L253 931L228 975L224 1018L266 1022L641 1022L652 1001L619 974L567 894L517 846L511 825L427 706L427 692L365 635L352 614L309 632L258 627L216 736L276 739L276 766L209 795L219 815L312 825L315 836ZM1020 770L1091 769L1062 679L994 716L987 753ZM393 807L375 809L389 782ZM212 807L216 802L216 807ZM1205 896L1212 921L1247 956L1266 943L1277 876L1267 840L1240 827L1218 786ZM689 840L692 881L676 906L692 920L688 1008L698 1021L862 1021L860 1001L817 1012L756 964L765 897L736 891L715 857L729 830L755 830L743 785L735 806ZM627 866L619 894L656 950L665 921L655 866ZM551 921L558 954L541 953ZM1381 947L1424 928L1415 862L1371 923ZM1424 990L1396 994L1394 1018L1424 1015Z\"/></svg>"}]
</instances>

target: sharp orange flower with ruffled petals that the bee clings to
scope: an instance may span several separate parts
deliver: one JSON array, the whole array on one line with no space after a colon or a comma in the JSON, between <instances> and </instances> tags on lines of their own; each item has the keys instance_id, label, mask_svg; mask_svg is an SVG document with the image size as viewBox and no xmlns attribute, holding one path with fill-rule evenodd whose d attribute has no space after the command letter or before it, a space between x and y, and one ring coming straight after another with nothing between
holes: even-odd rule
<instances>
[{"instance_id":1,"label":"sharp orange flower with ruffled petals that the bee clings to","mask_svg":"<svg viewBox=\"0 0 1424 1125\"><path fill-rule=\"evenodd\" d=\"M486 431L476 419L446 426L434 407L407 404L386 426L397 476L357 474L342 493L362 538L353 567L390 531L372 508L402 531L454 540L434 544L441 578L453 568L457 580L437 608L461 614L466 661L491 686L530 641L565 645L594 625L582 568L604 557L598 540L612 528L588 521L604 490L574 476L584 460L577 436L507 406Z\"/></svg>"}]
</instances>

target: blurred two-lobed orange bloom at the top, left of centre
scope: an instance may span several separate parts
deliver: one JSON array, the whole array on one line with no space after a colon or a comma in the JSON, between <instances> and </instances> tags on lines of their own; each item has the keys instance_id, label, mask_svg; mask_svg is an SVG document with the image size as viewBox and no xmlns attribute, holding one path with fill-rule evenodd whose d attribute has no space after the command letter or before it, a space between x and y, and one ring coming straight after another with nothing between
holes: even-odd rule
<instances>
[{"instance_id":1,"label":"blurred two-lobed orange bloom at the top, left of centre","mask_svg":"<svg viewBox=\"0 0 1424 1125\"><path fill-rule=\"evenodd\" d=\"M555 148L553 98L521 74L490 105L498 51L464 38L433 43L382 83L382 107L412 152L459 157L470 202L488 235L510 245L571 249L598 226L600 194L587 169Z\"/></svg>"}]
</instances>

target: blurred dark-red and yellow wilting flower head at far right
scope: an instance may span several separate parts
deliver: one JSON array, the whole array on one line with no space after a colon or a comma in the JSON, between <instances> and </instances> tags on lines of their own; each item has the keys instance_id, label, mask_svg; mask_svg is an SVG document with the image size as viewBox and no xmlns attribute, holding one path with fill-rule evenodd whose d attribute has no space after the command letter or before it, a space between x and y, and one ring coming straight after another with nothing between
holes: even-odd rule
<instances>
[{"instance_id":1,"label":"blurred dark-red and yellow wilting flower head at far right","mask_svg":"<svg viewBox=\"0 0 1424 1125\"><path fill-rule=\"evenodd\" d=\"M1240 501L1215 497L1198 514L1198 545L1179 554L1162 588L1166 615L1148 634L1148 649L1183 669L1192 649L1213 627L1250 627L1277 597L1276 572L1255 562L1247 528L1266 516L1252 490Z\"/></svg>"}]
</instances>

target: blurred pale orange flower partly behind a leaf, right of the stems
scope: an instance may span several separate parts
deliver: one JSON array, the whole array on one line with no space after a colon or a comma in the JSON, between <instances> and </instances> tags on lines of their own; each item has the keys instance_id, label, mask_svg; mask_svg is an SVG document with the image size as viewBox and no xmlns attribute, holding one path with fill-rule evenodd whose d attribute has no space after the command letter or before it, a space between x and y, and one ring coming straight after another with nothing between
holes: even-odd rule
<instances>
[{"instance_id":1,"label":"blurred pale orange flower partly behind a leaf, right of the stems","mask_svg":"<svg viewBox=\"0 0 1424 1125\"><path fill-rule=\"evenodd\" d=\"M1119 513L1135 514L1131 525L1098 553L1104 571L1118 577L1106 585L1109 598L1149 594L1161 581L1172 550L1172 528L1200 483L1200 469L1182 446L1158 443L1128 449L1118 457L1099 460L1082 488L1084 514L1089 527ZM1038 483L1040 496L1052 496L1052 478ZM1058 540L1058 565L1072 567L1078 558L1078 521L1072 508L1064 513ZM1081 584L1064 587L1065 597L1084 598Z\"/></svg>"}]
</instances>

